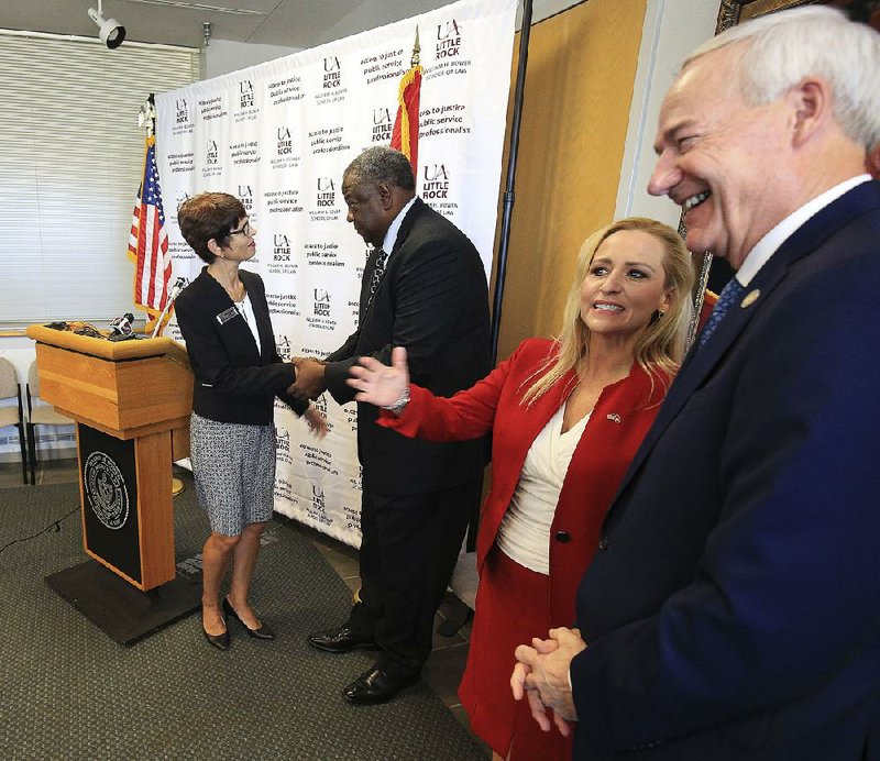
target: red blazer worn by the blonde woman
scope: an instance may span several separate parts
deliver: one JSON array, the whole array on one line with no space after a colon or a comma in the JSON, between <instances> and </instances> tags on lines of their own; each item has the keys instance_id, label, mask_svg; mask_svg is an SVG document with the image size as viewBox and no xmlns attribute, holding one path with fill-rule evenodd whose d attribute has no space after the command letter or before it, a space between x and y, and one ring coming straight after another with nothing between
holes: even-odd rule
<instances>
[{"instance_id":1,"label":"red blazer worn by the blonde woman","mask_svg":"<svg viewBox=\"0 0 880 761\"><path fill-rule=\"evenodd\" d=\"M476 541L477 569L495 542L532 442L564 404L574 386L571 371L531 406L520 405L536 370L556 344L527 339L514 354L472 388L451 398L410 386L410 400L398 418L383 412L380 426L431 441L475 439L492 431L492 487L483 506ZM669 378L653 377L638 364L626 378L607 386L598 398L574 450L550 529L550 599L554 626L574 619L574 598L593 559L600 529L629 461L648 432Z\"/></svg>"}]
</instances>

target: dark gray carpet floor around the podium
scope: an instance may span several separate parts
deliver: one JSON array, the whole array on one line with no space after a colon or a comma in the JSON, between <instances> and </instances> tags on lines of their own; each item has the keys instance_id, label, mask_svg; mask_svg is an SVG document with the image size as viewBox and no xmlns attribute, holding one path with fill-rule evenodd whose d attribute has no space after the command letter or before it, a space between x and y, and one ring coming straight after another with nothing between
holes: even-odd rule
<instances>
[{"instance_id":1,"label":"dark gray carpet floor around the podium","mask_svg":"<svg viewBox=\"0 0 880 761\"><path fill-rule=\"evenodd\" d=\"M0 492L0 547L76 508L74 485ZM175 498L177 558L208 532L191 486ZM59 531L0 552L0 757L6 759L485 759L424 683L385 706L352 706L342 685L370 653L331 655L306 635L338 624L350 593L311 542L270 527L253 602L278 632L232 647L201 637L198 615L131 648L96 628L44 583L86 560L79 514Z\"/></svg>"}]
</instances>

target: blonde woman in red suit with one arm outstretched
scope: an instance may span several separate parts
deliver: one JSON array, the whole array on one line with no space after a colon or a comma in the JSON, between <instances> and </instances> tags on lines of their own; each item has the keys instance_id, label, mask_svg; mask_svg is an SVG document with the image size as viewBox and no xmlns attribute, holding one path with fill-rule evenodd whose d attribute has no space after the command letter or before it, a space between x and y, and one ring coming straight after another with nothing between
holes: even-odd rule
<instances>
[{"instance_id":1,"label":"blonde woman in red suit with one arm outstretched","mask_svg":"<svg viewBox=\"0 0 880 761\"><path fill-rule=\"evenodd\" d=\"M560 338L524 341L469 390L442 398L410 385L405 348L394 350L393 367L362 357L351 370L355 398L385 408L381 426L433 441L493 433L459 694L496 758L571 756L568 739L541 732L513 699L514 650L574 619L605 511L684 352L692 283L674 230L625 219L581 249Z\"/></svg>"}]
</instances>

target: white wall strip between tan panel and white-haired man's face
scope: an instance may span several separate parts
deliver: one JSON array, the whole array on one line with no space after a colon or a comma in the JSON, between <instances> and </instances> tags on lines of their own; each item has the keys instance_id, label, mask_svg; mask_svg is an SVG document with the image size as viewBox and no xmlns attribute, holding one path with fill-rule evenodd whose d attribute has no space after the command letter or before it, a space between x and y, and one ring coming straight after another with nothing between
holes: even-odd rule
<instances>
[{"instance_id":1,"label":"white wall strip between tan panel and white-haired man's face","mask_svg":"<svg viewBox=\"0 0 880 761\"><path fill-rule=\"evenodd\" d=\"M718 3L715 0L648 0L617 188L616 219L650 217L678 228L679 208L666 196L654 198L647 190L656 159L657 120L663 96L681 62L715 34L717 15Z\"/></svg>"}]
</instances>

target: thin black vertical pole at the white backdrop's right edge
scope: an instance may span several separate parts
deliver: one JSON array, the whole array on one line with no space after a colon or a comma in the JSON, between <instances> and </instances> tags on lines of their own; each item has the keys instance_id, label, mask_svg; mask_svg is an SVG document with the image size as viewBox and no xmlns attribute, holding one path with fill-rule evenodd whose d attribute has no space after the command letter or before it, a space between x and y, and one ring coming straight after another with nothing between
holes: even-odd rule
<instances>
[{"instance_id":1,"label":"thin black vertical pole at the white backdrop's right edge","mask_svg":"<svg viewBox=\"0 0 880 761\"><path fill-rule=\"evenodd\" d=\"M502 230L498 244L498 265L495 269L495 293L492 306L490 340L492 346L492 366L498 359L498 332L502 322L502 301L504 300L504 279L507 275L507 251L510 244L510 219L514 212L516 192L516 161L519 153L519 128L522 122L522 97L526 90L526 67L529 57L529 34L531 32L531 2L522 0L522 23L519 29L519 63L516 70L516 89L514 91L514 111L510 121L510 150L507 154L507 185L502 201Z\"/></svg>"}]
</instances>

